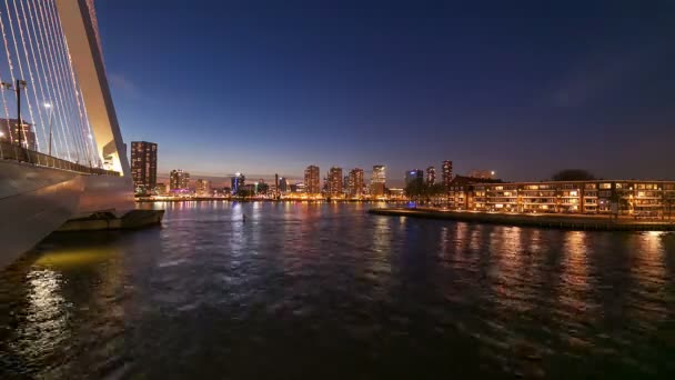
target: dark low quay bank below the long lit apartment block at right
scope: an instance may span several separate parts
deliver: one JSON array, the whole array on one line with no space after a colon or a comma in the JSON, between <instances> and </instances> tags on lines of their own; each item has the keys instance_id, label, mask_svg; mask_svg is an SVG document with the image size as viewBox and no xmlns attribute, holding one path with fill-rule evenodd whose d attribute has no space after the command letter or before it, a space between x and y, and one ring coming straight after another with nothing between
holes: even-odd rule
<instances>
[{"instance_id":1,"label":"dark low quay bank below the long lit apartment block at right","mask_svg":"<svg viewBox=\"0 0 675 380\"><path fill-rule=\"evenodd\" d=\"M520 227L555 228L584 231L675 231L675 220L633 220L609 216L516 214L432 209L386 208L367 211L377 216L412 217Z\"/></svg>"}]
</instances>

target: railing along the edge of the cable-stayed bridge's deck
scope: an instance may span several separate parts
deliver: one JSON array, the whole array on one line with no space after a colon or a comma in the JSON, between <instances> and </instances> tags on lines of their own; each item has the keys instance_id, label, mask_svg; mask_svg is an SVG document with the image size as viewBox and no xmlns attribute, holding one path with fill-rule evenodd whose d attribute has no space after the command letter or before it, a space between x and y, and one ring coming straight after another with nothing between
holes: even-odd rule
<instances>
[{"instance_id":1,"label":"railing along the edge of the cable-stayed bridge's deck","mask_svg":"<svg viewBox=\"0 0 675 380\"><path fill-rule=\"evenodd\" d=\"M7 141L0 141L0 159L28 162L39 167L77 171L84 174L120 177L120 173L117 171L91 168L80 163L70 162L20 147L18 144L9 143Z\"/></svg>"}]
</instances>

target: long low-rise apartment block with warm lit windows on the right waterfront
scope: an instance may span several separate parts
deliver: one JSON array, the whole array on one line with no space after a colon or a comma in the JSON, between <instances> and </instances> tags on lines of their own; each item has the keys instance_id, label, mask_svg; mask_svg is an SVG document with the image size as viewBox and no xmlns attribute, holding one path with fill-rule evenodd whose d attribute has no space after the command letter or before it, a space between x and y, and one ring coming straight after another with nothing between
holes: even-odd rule
<instances>
[{"instance_id":1,"label":"long low-rise apartment block with warm lit windows on the right waterfront","mask_svg":"<svg viewBox=\"0 0 675 380\"><path fill-rule=\"evenodd\" d=\"M447 206L482 211L634 216L669 214L675 206L675 181L485 181L467 177L455 179L447 194Z\"/></svg>"}]
</instances>

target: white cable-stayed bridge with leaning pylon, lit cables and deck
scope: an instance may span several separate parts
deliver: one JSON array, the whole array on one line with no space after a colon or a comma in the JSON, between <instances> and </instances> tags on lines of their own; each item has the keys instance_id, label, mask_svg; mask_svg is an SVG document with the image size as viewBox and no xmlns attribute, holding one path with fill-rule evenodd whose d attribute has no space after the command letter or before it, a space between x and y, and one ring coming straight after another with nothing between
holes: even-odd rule
<instances>
[{"instance_id":1,"label":"white cable-stayed bridge with leaning pylon, lit cables and deck","mask_svg":"<svg viewBox=\"0 0 675 380\"><path fill-rule=\"evenodd\" d=\"M67 220L133 209L93 0L0 0L0 268Z\"/></svg>"}]
</instances>

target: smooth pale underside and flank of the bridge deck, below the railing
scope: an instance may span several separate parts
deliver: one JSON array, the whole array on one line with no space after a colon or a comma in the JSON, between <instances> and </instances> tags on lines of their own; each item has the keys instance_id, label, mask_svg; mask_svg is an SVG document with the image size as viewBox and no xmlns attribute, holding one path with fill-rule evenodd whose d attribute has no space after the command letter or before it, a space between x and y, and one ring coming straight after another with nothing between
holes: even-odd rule
<instances>
[{"instance_id":1,"label":"smooth pale underside and flank of the bridge deck, below the railing","mask_svg":"<svg viewBox=\"0 0 675 380\"><path fill-rule=\"evenodd\" d=\"M72 218L133 206L128 177L89 176L0 161L0 268Z\"/></svg>"}]
</instances>

